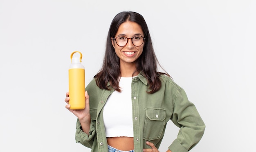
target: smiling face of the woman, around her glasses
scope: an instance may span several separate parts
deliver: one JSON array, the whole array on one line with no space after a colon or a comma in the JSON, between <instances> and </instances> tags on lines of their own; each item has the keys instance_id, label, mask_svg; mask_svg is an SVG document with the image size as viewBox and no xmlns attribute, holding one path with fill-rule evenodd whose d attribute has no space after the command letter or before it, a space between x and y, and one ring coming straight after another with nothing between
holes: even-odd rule
<instances>
[{"instance_id":1,"label":"smiling face of the woman, around her glasses","mask_svg":"<svg viewBox=\"0 0 256 152\"><path fill-rule=\"evenodd\" d=\"M127 38L134 36L144 37L141 26L135 22L126 21L119 26L115 37L125 36ZM120 66L122 64L135 64L143 51L144 42L141 46L132 44L132 40L128 39L125 46L118 46L116 41L112 39L112 45L115 48L115 53L120 58Z\"/></svg>"}]
</instances>

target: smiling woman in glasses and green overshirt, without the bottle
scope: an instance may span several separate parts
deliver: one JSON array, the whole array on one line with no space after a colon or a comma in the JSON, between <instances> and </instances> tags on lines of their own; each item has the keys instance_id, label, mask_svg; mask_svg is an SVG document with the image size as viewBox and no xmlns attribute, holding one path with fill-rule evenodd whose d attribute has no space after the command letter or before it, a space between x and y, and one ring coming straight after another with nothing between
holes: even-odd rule
<instances>
[{"instance_id":1,"label":"smiling woman in glasses and green overshirt, without the bottle","mask_svg":"<svg viewBox=\"0 0 256 152\"><path fill-rule=\"evenodd\" d=\"M202 138L204 122L184 90L167 73L157 72L157 65L144 18L117 14L103 66L86 87L86 108L70 110L66 93L66 108L78 117L76 142L93 152L159 152L171 119L180 132L167 152L191 150Z\"/></svg>"}]
</instances>

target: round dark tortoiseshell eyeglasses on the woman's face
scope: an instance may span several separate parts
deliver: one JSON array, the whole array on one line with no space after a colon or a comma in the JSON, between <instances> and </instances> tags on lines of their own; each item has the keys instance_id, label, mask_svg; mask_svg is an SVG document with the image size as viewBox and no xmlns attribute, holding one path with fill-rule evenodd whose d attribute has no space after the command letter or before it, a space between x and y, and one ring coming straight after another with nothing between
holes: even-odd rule
<instances>
[{"instance_id":1,"label":"round dark tortoiseshell eyeglasses on the woman's face","mask_svg":"<svg viewBox=\"0 0 256 152\"><path fill-rule=\"evenodd\" d=\"M123 47L128 43L129 39L132 40L133 45L141 46L146 38L143 37L143 36L137 35L137 36L129 37L129 38L127 38L125 36L118 36L118 37L113 38L113 39L116 40L118 46Z\"/></svg>"}]
</instances>

